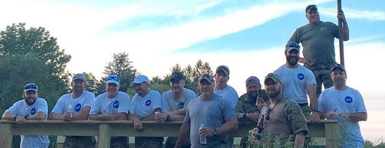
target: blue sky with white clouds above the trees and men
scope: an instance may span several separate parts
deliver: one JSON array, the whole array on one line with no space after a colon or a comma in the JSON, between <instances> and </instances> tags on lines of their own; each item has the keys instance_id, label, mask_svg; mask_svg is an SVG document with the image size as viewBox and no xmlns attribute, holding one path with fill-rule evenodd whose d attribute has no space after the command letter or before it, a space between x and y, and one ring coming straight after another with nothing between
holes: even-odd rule
<instances>
[{"instance_id":1,"label":"blue sky with white clouds above the trees and men","mask_svg":"<svg viewBox=\"0 0 385 148\"><path fill-rule=\"evenodd\" d=\"M0 30L21 22L46 28L72 56L71 73L102 76L119 52L149 77L199 59L213 69L227 65L228 83L241 95L248 76L262 79L285 63L285 43L308 23L311 4L321 20L337 23L336 0L0 0ZM368 121L360 125L364 138L375 141L385 136L385 2L343 0L342 7L350 28L347 84L364 97Z\"/></svg>"}]
</instances>

